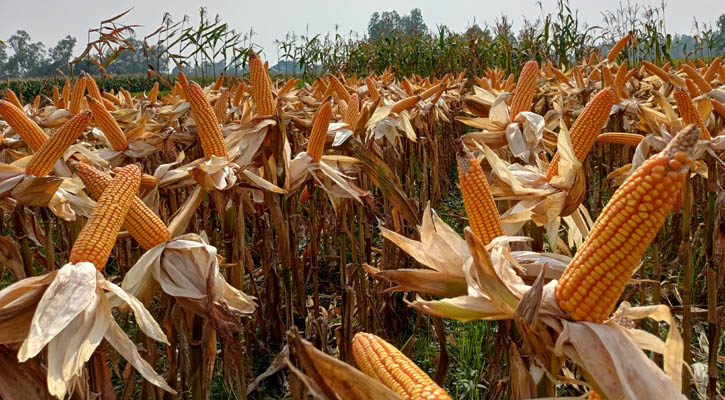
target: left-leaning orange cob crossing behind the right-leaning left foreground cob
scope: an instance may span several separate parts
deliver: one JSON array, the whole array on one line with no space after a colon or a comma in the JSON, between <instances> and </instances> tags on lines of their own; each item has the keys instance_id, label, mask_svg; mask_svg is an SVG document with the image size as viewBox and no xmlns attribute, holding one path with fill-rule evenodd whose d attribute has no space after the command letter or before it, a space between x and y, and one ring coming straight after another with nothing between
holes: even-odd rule
<instances>
[{"instance_id":1,"label":"left-leaning orange cob crossing behind the right-leaning left foreground cob","mask_svg":"<svg viewBox=\"0 0 725 400\"><path fill-rule=\"evenodd\" d=\"M111 177L105 172L99 171L85 163L78 162L75 164L75 168L76 173L83 181L83 184L86 185L86 189L88 189L91 197L98 200L111 183ZM116 173L120 172L120 168L116 169ZM155 186L156 178L143 174L140 178L140 186L148 186L151 181L153 181L153 185ZM146 250L171 240L171 233L163 221L161 221L161 218L151 211L136 196L135 192L133 195L131 208L129 208L128 214L125 220L123 220L123 227L128 233Z\"/></svg>"}]
</instances>

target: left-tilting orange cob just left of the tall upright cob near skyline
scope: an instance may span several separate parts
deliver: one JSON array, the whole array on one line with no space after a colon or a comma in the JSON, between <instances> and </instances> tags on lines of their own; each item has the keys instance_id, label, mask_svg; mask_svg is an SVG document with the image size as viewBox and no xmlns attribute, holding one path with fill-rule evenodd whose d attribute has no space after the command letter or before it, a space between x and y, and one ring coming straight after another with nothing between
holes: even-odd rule
<instances>
[{"instance_id":1,"label":"left-tilting orange cob just left of the tall upright cob near skyline","mask_svg":"<svg viewBox=\"0 0 725 400\"><path fill-rule=\"evenodd\" d=\"M196 82L190 82L186 89L186 99L191 104L191 112L194 114L196 130L201 141L201 148L204 150L204 157L207 160L211 156L229 158L219 122L201 86Z\"/></svg>"}]
</instances>

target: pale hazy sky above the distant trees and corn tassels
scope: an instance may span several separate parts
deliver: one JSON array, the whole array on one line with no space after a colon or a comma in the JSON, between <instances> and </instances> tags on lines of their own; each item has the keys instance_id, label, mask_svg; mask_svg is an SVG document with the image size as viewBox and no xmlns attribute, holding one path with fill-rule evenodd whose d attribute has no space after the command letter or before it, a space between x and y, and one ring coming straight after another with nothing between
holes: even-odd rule
<instances>
[{"instance_id":1,"label":"pale hazy sky above the distant trees and corn tassels","mask_svg":"<svg viewBox=\"0 0 725 400\"><path fill-rule=\"evenodd\" d=\"M619 0L571 0L573 9L579 10L581 21L590 25L602 23L602 11L613 10ZM626 1L625 1L626 2ZM632 1L632 4L659 5L661 0ZM512 18L514 30L518 31L524 16L536 19L540 16L535 0L218 0L199 2L192 0L146 0L146 1L102 1L102 0L0 0L0 39L8 39L15 31L23 29L33 41L42 41L46 47L52 47L65 35L78 39L75 53L85 47L88 28L97 27L102 19L112 17L134 7L122 20L127 24L142 25L137 28L137 36L143 37L153 32L161 23L164 12L169 11L175 21L184 14L198 21L199 7L205 5L211 18L220 14L237 31L256 32L255 42L265 48L267 58L275 61L277 50L275 39L284 38L290 31L304 33L326 33L339 26L341 33L354 30L363 34L367 22L374 11L397 10L407 14L418 7L429 28L446 24L454 31L462 31L474 20L481 26L492 23L501 14ZM553 12L556 0L542 0L545 12ZM688 33L693 31L693 17L699 22L713 24L717 17L725 13L722 0L670 0L666 7L667 30L670 33Z\"/></svg>"}]
</instances>

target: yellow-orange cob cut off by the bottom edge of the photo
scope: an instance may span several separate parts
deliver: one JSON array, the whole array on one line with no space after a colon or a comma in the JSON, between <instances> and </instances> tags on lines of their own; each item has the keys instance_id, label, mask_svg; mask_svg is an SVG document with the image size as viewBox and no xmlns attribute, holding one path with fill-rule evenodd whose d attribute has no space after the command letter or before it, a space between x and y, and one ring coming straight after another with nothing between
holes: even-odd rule
<instances>
[{"instance_id":1,"label":"yellow-orange cob cut off by the bottom edge of the photo","mask_svg":"<svg viewBox=\"0 0 725 400\"><path fill-rule=\"evenodd\" d=\"M406 400L449 400L445 390L400 350L382 338L360 332L352 339L358 368Z\"/></svg>"}]
</instances>

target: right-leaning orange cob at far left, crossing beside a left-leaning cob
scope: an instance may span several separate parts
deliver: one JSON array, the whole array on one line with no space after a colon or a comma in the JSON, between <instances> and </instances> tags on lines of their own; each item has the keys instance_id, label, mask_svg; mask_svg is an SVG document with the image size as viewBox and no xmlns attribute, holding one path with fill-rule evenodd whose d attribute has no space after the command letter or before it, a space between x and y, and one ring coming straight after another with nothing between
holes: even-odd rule
<instances>
[{"instance_id":1,"label":"right-leaning orange cob at far left, crossing beside a left-leaning cob","mask_svg":"<svg viewBox=\"0 0 725 400\"><path fill-rule=\"evenodd\" d=\"M25 173L35 176L48 175L58 158L78 139L90 121L91 112L88 110L68 120L35 152L25 167Z\"/></svg>"}]
</instances>

